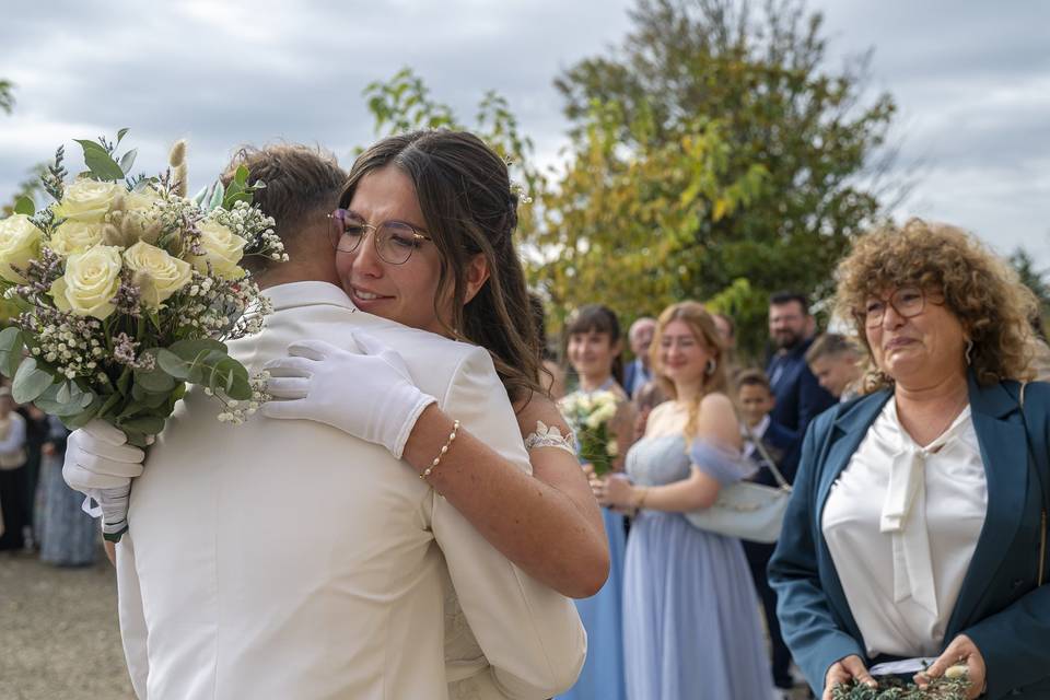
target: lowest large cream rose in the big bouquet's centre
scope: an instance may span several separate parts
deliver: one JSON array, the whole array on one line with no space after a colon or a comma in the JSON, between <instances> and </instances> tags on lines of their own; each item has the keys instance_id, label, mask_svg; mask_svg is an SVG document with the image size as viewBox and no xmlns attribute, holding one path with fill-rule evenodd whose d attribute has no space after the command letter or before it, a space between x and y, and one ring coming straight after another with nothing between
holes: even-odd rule
<instances>
[{"instance_id":1,"label":"lowest large cream rose in the big bouquet's centre","mask_svg":"<svg viewBox=\"0 0 1050 700\"><path fill-rule=\"evenodd\" d=\"M96 245L66 260L66 275L51 283L59 311L104 320L116 310L113 298L120 288L120 248Z\"/></svg>"}]
</instances>

